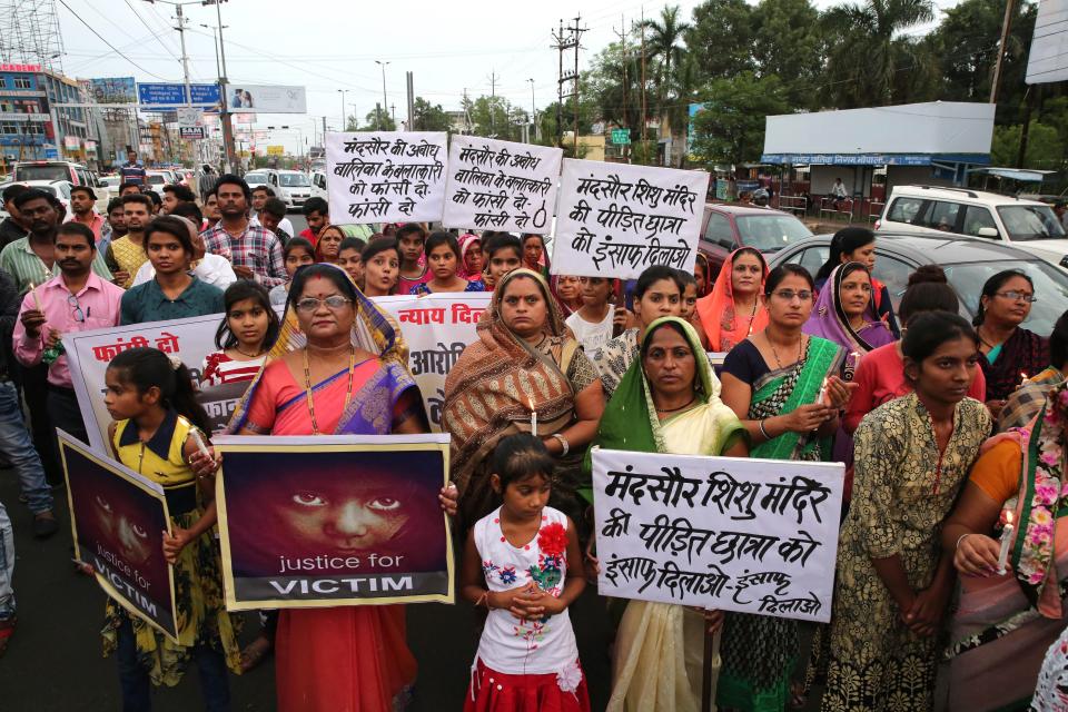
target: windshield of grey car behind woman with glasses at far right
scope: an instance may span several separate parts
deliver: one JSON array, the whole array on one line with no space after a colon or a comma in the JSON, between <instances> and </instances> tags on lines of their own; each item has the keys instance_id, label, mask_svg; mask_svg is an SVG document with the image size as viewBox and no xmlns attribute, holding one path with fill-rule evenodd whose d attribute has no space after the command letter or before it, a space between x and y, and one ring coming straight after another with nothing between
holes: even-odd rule
<instances>
[{"instance_id":1,"label":"windshield of grey car behind woman with glasses at far right","mask_svg":"<svg viewBox=\"0 0 1068 712\"><path fill-rule=\"evenodd\" d=\"M1003 269L1019 269L1035 283L1037 301L1024 322L1026 328L1036 334L1049 334L1054 324L1064 314L1068 303L1068 274L1042 261L1003 260L971 265L950 265L946 268L949 284L971 315L979 309L979 295L987 279Z\"/></svg>"}]
</instances>

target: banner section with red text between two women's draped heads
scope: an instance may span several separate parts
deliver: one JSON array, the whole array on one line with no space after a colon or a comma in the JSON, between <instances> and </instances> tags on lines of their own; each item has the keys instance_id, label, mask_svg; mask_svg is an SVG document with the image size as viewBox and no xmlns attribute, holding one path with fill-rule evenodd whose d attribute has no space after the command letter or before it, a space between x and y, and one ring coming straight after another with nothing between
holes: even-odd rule
<instances>
[{"instance_id":1,"label":"banner section with red text between two women's draped heads","mask_svg":"<svg viewBox=\"0 0 1068 712\"><path fill-rule=\"evenodd\" d=\"M375 304L400 327L409 350L408 365L435 433L442 431L445 376L464 348L478 338L475 326L492 298L488 291L375 297Z\"/></svg>"}]
</instances>

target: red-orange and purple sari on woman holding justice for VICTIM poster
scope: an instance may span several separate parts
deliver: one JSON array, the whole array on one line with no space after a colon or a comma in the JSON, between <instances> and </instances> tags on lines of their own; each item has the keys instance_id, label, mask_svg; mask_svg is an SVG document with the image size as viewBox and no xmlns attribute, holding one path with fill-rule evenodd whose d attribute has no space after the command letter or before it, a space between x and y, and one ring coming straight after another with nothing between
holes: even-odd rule
<instances>
[{"instance_id":1,"label":"red-orange and purple sari on woman holding justice for VICTIM poster","mask_svg":"<svg viewBox=\"0 0 1068 712\"><path fill-rule=\"evenodd\" d=\"M378 356L356 365L347 406L348 368L313 386L316 419L334 435L387 435L394 422L417 415L413 408L422 409L422 398L394 327L370 299L357 296L353 345ZM306 343L288 309L267 364L238 404L228 432L312 434L305 388L281 359ZM403 605L281 611L275 639L278 709L386 712L403 706L416 673L405 637Z\"/></svg>"}]
</instances>

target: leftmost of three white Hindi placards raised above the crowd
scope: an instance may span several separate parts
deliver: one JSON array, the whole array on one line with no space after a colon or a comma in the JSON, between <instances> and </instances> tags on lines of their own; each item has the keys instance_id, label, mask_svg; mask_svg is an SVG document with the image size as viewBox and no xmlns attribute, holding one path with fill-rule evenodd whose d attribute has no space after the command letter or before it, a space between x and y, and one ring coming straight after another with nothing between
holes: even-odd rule
<instances>
[{"instance_id":1,"label":"leftmost of three white Hindi placards raised above the crowd","mask_svg":"<svg viewBox=\"0 0 1068 712\"><path fill-rule=\"evenodd\" d=\"M326 135L330 216L335 222L432 222L442 219L443 131Z\"/></svg>"}]
</instances>

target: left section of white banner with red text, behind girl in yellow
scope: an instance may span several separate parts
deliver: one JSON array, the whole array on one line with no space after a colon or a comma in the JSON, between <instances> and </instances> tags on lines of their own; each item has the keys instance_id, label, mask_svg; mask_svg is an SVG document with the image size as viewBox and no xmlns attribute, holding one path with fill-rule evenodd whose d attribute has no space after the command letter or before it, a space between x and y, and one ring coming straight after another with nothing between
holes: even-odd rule
<instances>
[{"instance_id":1,"label":"left section of white banner with red text, behind girl in yellow","mask_svg":"<svg viewBox=\"0 0 1068 712\"><path fill-rule=\"evenodd\" d=\"M111 416L103 405L103 376L112 358L129 348L151 346L180 358L199 380L204 358L216 350L215 332L221 320L221 314L209 314L63 334L71 385L78 396L89 445L98 453L109 452L106 443Z\"/></svg>"}]
</instances>

